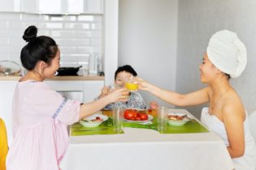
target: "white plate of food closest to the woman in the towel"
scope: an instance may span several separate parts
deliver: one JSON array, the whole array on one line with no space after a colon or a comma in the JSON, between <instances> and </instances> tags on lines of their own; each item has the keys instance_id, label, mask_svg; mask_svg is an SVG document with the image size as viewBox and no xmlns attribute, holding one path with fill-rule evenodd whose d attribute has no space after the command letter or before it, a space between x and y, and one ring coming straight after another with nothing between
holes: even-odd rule
<instances>
[{"instance_id":1,"label":"white plate of food closest to the woman in the towel","mask_svg":"<svg viewBox=\"0 0 256 170\"><path fill-rule=\"evenodd\" d=\"M168 113L167 122L169 125L184 125L191 118L185 113Z\"/></svg>"}]
</instances>

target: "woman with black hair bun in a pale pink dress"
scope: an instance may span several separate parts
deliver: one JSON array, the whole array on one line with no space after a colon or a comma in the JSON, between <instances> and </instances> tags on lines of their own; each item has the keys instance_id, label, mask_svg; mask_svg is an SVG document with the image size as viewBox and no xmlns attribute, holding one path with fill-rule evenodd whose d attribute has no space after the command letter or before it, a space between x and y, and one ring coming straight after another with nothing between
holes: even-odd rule
<instances>
[{"instance_id":1,"label":"woman with black hair bun in a pale pink dress","mask_svg":"<svg viewBox=\"0 0 256 170\"><path fill-rule=\"evenodd\" d=\"M8 170L59 170L68 143L67 125L97 112L106 104L126 101L125 88L89 104L69 100L50 89L44 79L59 69L60 52L49 36L37 36L35 26L23 36L28 42L20 59L28 73L15 87L12 105L14 141L7 155Z\"/></svg>"}]
</instances>

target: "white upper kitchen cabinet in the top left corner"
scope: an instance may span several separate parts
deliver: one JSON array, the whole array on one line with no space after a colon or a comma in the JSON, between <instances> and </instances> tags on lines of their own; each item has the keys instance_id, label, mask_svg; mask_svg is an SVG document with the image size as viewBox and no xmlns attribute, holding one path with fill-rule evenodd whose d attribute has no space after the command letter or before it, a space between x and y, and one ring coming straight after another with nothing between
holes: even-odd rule
<instances>
[{"instance_id":1,"label":"white upper kitchen cabinet in the top left corner","mask_svg":"<svg viewBox=\"0 0 256 170\"><path fill-rule=\"evenodd\" d=\"M20 12L21 0L0 0L1 12Z\"/></svg>"}]
</instances>

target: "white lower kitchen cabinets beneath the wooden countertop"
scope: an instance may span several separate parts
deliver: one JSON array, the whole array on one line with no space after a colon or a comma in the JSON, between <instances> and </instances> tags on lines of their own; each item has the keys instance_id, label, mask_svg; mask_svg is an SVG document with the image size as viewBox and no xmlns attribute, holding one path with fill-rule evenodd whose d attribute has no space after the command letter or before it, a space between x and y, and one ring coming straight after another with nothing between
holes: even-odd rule
<instances>
[{"instance_id":1,"label":"white lower kitchen cabinets beneath the wooden countertop","mask_svg":"<svg viewBox=\"0 0 256 170\"><path fill-rule=\"evenodd\" d=\"M7 126L8 144L10 145L12 137L12 97L18 80L0 81L0 117ZM80 100L82 103L89 103L96 98L104 86L104 80L74 81L74 80L46 80L53 90L60 91L63 96L69 99Z\"/></svg>"}]
</instances>

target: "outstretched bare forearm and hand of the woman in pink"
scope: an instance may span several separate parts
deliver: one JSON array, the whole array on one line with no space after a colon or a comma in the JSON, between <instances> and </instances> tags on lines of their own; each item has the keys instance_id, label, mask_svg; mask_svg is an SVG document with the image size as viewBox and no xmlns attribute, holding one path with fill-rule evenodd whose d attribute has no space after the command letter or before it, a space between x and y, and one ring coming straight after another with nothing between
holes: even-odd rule
<instances>
[{"instance_id":1,"label":"outstretched bare forearm and hand of the woman in pink","mask_svg":"<svg viewBox=\"0 0 256 170\"><path fill-rule=\"evenodd\" d=\"M89 115L98 112L102 108L106 106L106 104L111 104L116 101L127 101L128 100L128 94L126 88L116 89L114 91L111 91L107 96L104 96L100 98L99 100L95 100L88 104L82 104L80 106L80 119L84 117L88 117Z\"/></svg>"}]
</instances>

